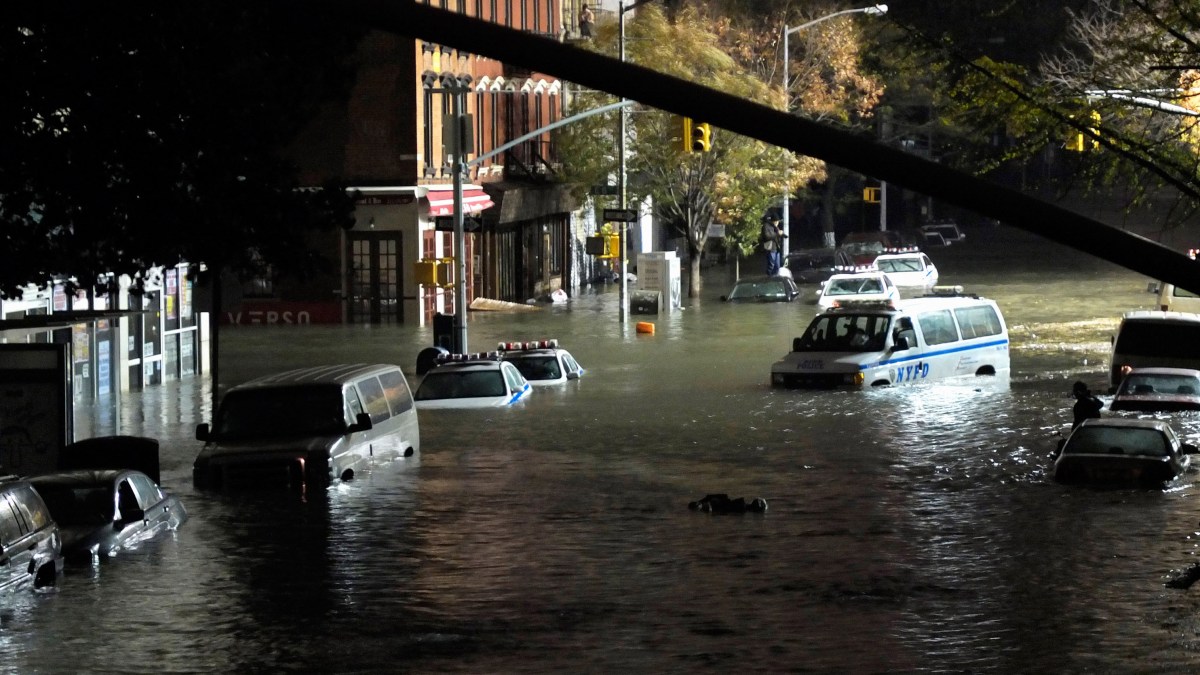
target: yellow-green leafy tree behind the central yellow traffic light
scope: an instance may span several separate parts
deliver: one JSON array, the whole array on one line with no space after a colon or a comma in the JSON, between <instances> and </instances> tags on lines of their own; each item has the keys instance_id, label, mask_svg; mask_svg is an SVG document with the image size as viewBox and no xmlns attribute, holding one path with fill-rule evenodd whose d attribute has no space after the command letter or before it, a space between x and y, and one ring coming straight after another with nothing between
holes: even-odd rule
<instances>
[{"instance_id":1,"label":"yellow-green leafy tree behind the central yellow traffic light","mask_svg":"<svg viewBox=\"0 0 1200 675\"><path fill-rule=\"evenodd\" d=\"M732 59L713 28L713 20L691 7L676 12L672 20L656 6L643 6L626 22L626 58L748 100L780 104L780 90ZM601 25L594 48L616 54L617 40L617 26ZM572 110L613 101L604 92L581 92ZM703 123L704 110L691 117ZM794 189L821 172L816 160L796 159L722 130L714 130L712 151L686 151L679 119L662 110L637 108L630 120L630 199L637 203L650 197L659 217L685 238L691 297L700 294L700 263L710 223L724 223L727 240L749 251L757 241L760 217L778 202L785 185ZM565 178L581 185L610 183L618 166L616 132L616 121L606 115L564 129L557 142L560 155L570 157Z\"/></svg>"}]
</instances>

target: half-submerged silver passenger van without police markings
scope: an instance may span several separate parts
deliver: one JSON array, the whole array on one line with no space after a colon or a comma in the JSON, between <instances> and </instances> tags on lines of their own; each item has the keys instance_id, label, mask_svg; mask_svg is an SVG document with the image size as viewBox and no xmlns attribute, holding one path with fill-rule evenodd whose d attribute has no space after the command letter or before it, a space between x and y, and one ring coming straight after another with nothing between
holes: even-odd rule
<instances>
[{"instance_id":1,"label":"half-submerged silver passenger van without police markings","mask_svg":"<svg viewBox=\"0 0 1200 675\"><path fill-rule=\"evenodd\" d=\"M324 365L230 389L192 466L197 488L322 488L374 460L420 450L416 407L400 366Z\"/></svg>"}]
</instances>

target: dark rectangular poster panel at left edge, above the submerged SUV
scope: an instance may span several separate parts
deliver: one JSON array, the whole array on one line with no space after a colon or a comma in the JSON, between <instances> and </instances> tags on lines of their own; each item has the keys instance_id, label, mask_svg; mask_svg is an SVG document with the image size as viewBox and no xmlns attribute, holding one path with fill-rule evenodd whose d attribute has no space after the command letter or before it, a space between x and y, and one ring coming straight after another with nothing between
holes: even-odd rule
<instances>
[{"instance_id":1,"label":"dark rectangular poster panel at left edge, above the submerged SUV","mask_svg":"<svg viewBox=\"0 0 1200 675\"><path fill-rule=\"evenodd\" d=\"M0 344L0 474L58 468L74 438L70 345Z\"/></svg>"}]
</instances>

